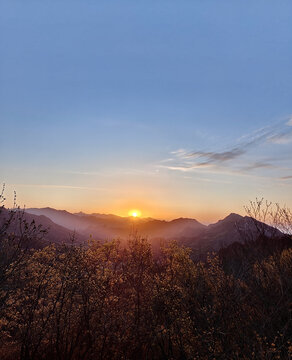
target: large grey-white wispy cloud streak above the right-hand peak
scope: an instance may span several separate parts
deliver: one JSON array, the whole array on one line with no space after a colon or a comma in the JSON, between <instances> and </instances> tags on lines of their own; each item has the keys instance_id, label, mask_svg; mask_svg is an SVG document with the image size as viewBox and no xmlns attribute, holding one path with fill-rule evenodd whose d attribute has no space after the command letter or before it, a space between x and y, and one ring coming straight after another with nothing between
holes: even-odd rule
<instances>
[{"instance_id":1,"label":"large grey-white wispy cloud streak above the right-hand peak","mask_svg":"<svg viewBox=\"0 0 292 360\"><path fill-rule=\"evenodd\" d=\"M161 162L160 167L181 172L202 171L212 173L229 173L247 175L258 169L280 169L277 160L265 159L259 155L258 149L270 146L283 145L292 142L292 119L287 119L273 126L257 129L253 133L245 134L229 147L215 150L188 151L178 149L172 151L172 158Z\"/></svg>"}]
</instances>

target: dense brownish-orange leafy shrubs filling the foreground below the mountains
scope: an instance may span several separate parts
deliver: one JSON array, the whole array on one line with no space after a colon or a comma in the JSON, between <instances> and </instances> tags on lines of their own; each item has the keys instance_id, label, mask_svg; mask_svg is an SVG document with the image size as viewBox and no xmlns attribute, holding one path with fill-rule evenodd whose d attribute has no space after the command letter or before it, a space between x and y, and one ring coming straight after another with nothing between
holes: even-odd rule
<instances>
[{"instance_id":1,"label":"dense brownish-orange leafy shrubs filling the foreground below the mountains","mask_svg":"<svg viewBox=\"0 0 292 360\"><path fill-rule=\"evenodd\" d=\"M6 228L5 228L6 226ZM2 225L0 358L290 359L292 249L194 262L133 236L26 246ZM238 265L238 264L237 264Z\"/></svg>"}]
</instances>

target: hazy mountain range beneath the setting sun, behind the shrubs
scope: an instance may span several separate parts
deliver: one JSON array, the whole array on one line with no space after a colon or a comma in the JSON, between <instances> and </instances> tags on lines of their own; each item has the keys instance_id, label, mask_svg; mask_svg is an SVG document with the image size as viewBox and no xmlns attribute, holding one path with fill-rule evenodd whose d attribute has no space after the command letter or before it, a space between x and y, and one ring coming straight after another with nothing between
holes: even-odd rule
<instances>
[{"instance_id":1,"label":"hazy mountain range beneath the setting sun, behind the shrubs","mask_svg":"<svg viewBox=\"0 0 292 360\"><path fill-rule=\"evenodd\" d=\"M233 242L254 240L259 235L280 237L282 233L251 217L231 213L215 224L204 225L195 219L178 218L171 221L152 218L120 217L117 215L70 213L52 208L30 208L26 216L37 224L49 228L51 242L68 242L75 234L76 242L90 237L106 241L114 238L126 240L137 233L152 244L159 240L177 240L192 249L218 250Z\"/></svg>"}]
</instances>

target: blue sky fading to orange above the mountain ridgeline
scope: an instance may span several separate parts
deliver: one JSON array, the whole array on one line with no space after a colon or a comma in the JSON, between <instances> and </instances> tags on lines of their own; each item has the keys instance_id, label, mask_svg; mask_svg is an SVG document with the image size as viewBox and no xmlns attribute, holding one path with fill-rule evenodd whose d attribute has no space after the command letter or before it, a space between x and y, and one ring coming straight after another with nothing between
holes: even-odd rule
<instances>
[{"instance_id":1,"label":"blue sky fading to orange above the mountain ridgeline","mask_svg":"<svg viewBox=\"0 0 292 360\"><path fill-rule=\"evenodd\" d=\"M292 207L290 0L0 0L0 54L8 205Z\"/></svg>"}]
</instances>

